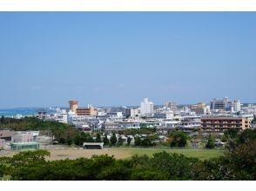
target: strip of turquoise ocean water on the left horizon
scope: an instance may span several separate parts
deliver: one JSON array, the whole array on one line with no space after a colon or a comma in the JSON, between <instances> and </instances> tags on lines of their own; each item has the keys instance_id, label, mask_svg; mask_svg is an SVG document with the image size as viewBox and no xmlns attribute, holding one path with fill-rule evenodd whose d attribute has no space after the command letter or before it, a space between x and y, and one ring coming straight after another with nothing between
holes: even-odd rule
<instances>
[{"instance_id":1,"label":"strip of turquoise ocean water on the left horizon","mask_svg":"<svg viewBox=\"0 0 256 191\"><path fill-rule=\"evenodd\" d=\"M16 115L36 115L38 111L42 109L38 108L19 108L19 109L0 109L0 116L14 117Z\"/></svg>"}]
</instances>

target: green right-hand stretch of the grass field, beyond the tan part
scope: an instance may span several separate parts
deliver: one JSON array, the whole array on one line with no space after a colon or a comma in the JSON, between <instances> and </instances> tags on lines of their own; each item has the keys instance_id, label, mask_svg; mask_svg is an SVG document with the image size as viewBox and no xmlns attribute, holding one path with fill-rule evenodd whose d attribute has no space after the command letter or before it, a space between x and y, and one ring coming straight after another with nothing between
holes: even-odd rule
<instances>
[{"instance_id":1,"label":"green right-hand stretch of the grass field, beyond the tan part","mask_svg":"<svg viewBox=\"0 0 256 191\"><path fill-rule=\"evenodd\" d=\"M192 149L192 148L111 148L117 152L129 152L129 155L149 155L165 150L169 153L182 154L187 157L195 157L200 160L208 160L223 155L224 150L221 149Z\"/></svg>"}]
</instances>

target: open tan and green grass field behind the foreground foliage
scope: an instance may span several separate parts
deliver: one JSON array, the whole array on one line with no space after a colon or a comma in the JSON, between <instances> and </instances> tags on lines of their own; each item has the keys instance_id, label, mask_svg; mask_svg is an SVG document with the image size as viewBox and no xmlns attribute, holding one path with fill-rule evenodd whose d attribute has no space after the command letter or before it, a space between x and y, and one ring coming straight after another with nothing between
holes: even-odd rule
<instances>
[{"instance_id":1,"label":"open tan and green grass field behind the foreground foliage","mask_svg":"<svg viewBox=\"0 0 256 191\"><path fill-rule=\"evenodd\" d=\"M182 154L188 157L196 157L200 160L207 160L213 157L223 155L223 150L208 150L208 149L171 149L171 148L104 148L102 150L84 150L75 148L65 149L51 149L51 157L48 158L50 161L77 159L79 157L90 158L92 155L114 155L117 159L131 158L132 155L149 155L152 156L154 153L165 150L170 153ZM10 151L6 155L1 156L13 156L18 152Z\"/></svg>"}]
</instances>

